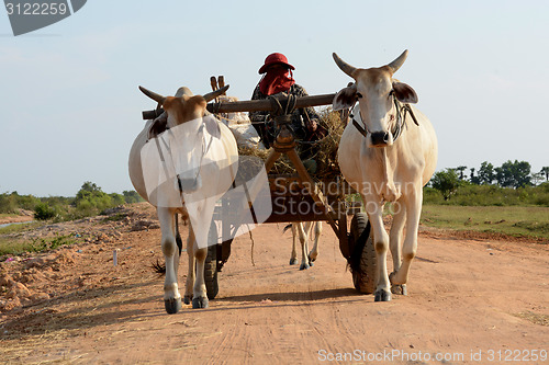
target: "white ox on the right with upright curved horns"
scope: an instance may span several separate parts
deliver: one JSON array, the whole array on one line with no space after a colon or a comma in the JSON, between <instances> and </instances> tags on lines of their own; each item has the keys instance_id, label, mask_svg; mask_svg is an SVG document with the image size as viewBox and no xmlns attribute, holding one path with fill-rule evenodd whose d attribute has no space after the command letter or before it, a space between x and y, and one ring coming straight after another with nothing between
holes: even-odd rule
<instances>
[{"instance_id":1,"label":"white ox on the right with upright curved horns","mask_svg":"<svg viewBox=\"0 0 549 365\"><path fill-rule=\"evenodd\" d=\"M344 130L338 149L339 168L360 192L372 227L377 256L374 300L388 301L391 292L406 293L410 265L417 249L423 186L432 178L437 162L437 138L425 115L410 106L416 125L401 104L417 102L410 85L393 79L407 50L386 66L369 69L355 68L336 54L333 56L337 66L355 79L355 84L336 94L334 110L351 107L358 100L361 119L357 121L359 127L357 123L349 123ZM390 237L383 227L384 202L396 202ZM386 272L389 247L394 267L391 275Z\"/></svg>"}]
</instances>

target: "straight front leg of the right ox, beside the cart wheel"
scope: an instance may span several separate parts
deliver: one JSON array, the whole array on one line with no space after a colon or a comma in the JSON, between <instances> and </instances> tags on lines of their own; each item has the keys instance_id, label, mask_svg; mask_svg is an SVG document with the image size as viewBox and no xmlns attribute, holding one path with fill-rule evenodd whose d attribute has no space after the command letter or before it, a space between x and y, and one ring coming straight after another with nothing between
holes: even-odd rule
<instances>
[{"instance_id":1,"label":"straight front leg of the right ox, beside the cart wheel","mask_svg":"<svg viewBox=\"0 0 549 365\"><path fill-rule=\"evenodd\" d=\"M367 203L368 217L372 226L373 231L373 247L376 249L376 301L389 301L391 300L391 290L389 288L389 275L386 273L386 251L389 250L389 235L383 226L383 205L372 201L371 198L363 199Z\"/></svg>"}]
</instances>

